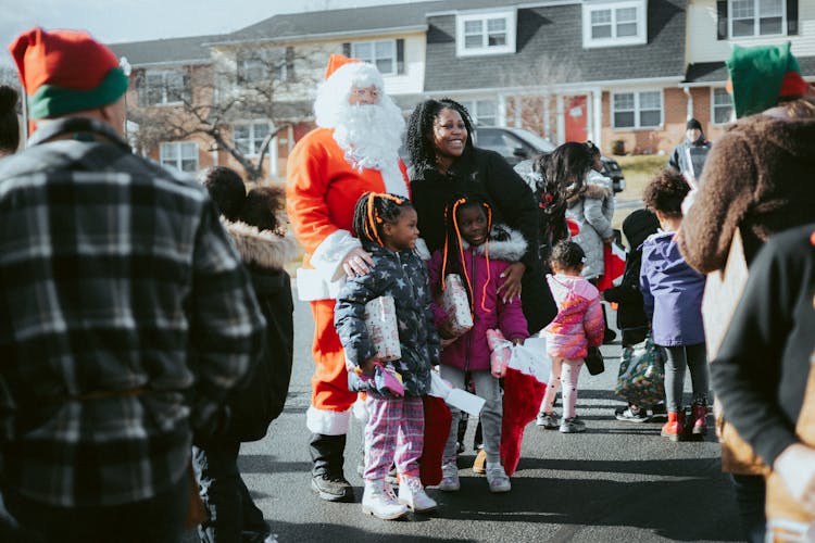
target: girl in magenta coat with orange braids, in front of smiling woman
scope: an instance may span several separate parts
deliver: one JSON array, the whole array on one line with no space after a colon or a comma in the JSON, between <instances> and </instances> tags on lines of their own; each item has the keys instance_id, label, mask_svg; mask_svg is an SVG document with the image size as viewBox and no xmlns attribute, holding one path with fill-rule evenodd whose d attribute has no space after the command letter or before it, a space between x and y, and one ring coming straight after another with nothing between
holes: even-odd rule
<instances>
[{"instance_id":1,"label":"girl in magenta coat with orange braids, in front of smiling woman","mask_svg":"<svg viewBox=\"0 0 815 543\"><path fill-rule=\"evenodd\" d=\"M504 338L516 343L527 338L527 325L521 300L503 300L498 290L504 282L503 273L526 251L519 232L502 226L492 227L490 206L475 197L460 198L448 205L444 214L447 238L444 248L432 254L429 263L430 287L438 301L449 274L459 274L467 290L473 328L441 352L441 377L454 387L464 388L468 375L475 392L486 403L480 420L484 450L487 453L487 482L490 492L509 492L510 478L501 465L501 388L490 371L490 348L487 330L500 329ZM443 339L453 339L450 323L439 303L432 304L436 326ZM439 490L452 492L461 488L455 465L457 427L461 412L450 408L453 416L444 447L442 480Z\"/></svg>"}]
</instances>

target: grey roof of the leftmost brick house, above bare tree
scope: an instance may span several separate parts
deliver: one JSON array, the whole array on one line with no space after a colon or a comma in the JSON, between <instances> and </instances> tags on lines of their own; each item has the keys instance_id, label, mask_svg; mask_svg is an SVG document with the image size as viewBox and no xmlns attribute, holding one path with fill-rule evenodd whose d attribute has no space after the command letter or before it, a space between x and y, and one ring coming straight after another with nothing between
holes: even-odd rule
<instances>
[{"instance_id":1,"label":"grey roof of the leftmost brick house, above bare tree","mask_svg":"<svg viewBox=\"0 0 815 543\"><path fill-rule=\"evenodd\" d=\"M223 35L108 43L116 56L127 56L133 66L204 64L210 62L212 41Z\"/></svg>"}]
</instances>

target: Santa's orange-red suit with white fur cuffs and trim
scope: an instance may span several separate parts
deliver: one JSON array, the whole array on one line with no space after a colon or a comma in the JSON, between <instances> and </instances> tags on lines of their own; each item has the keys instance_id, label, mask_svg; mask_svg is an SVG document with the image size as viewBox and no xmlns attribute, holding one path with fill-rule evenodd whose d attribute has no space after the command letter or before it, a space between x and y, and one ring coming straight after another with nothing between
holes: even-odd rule
<instances>
[{"instance_id":1,"label":"Santa's orange-red suit with white fur cuffs and trim","mask_svg":"<svg viewBox=\"0 0 815 543\"><path fill-rule=\"evenodd\" d=\"M335 299L344 275L340 263L351 249L360 247L351 236L360 197L367 191L408 194L404 164L400 161L393 167L399 178L387 184L378 169L358 169L346 160L328 128L309 132L288 160L287 211L306 253L298 269L298 295L311 302L314 313L316 369L306 424L315 433L348 432L349 409L356 393L348 390L342 344L334 329Z\"/></svg>"}]
</instances>

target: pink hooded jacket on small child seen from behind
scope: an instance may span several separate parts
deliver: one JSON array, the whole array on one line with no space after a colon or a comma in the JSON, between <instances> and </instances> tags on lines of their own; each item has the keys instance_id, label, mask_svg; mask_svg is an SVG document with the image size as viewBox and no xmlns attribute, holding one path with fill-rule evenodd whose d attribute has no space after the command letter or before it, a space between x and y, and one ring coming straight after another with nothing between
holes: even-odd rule
<instances>
[{"instance_id":1,"label":"pink hooded jacket on small child seen from behind","mask_svg":"<svg viewBox=\"0 0 815 543\"><path fill-rule=\"evenodd\" d=\"M603 311L597 287L582 277L548 275L557 316L543 328L547 353L557 358L586 358L588 348L603 344Z\"/></svg>"}]
</instances>

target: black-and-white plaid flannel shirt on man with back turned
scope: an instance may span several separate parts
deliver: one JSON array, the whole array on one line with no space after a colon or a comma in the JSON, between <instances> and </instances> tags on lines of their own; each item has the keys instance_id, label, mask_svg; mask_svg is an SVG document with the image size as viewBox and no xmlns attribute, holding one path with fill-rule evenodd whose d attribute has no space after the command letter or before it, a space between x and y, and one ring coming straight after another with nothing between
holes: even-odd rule
<instances>
[{"instance_id":1,"label":"black-and-white plaid flannel shirt on man with back turned","mask_svg":"<svg viewBox=\"0 0 815 543\"><path fill-rule=\"evenodd\" d=\"M195 180L89 119L32 143L0 161L4 476L57 506L150 498L260 353L263 316Z\"/></svg>"}]
</instances>

